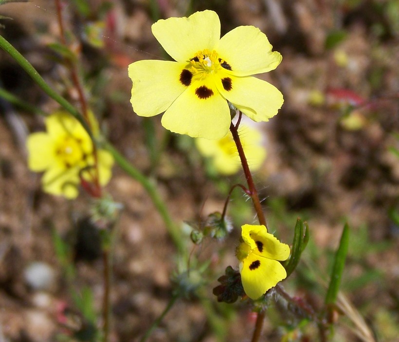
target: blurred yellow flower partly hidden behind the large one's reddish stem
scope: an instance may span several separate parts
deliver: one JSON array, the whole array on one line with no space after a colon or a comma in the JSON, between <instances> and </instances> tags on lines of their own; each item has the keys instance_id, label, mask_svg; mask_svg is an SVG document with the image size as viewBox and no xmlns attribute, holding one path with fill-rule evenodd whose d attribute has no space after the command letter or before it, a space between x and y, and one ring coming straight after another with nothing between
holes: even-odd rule
<instances>
[{"instance_id":1,"label":"blurred yellow flower partly hidden behind the large one's reddish stem","mask_svg":"<svg viewBox=\"0 0 399 342\"><path fill-rule=\"evenodd\" d=\"M238 134L251 171L258 170L266 157L266 150L261 145L262 134L243 124L239 126ZM203 156L211 158L219 173L229 175L241 169L236 143L230 131L218 140L196 138L196 146Z\"/></svg>"}]
</instances>

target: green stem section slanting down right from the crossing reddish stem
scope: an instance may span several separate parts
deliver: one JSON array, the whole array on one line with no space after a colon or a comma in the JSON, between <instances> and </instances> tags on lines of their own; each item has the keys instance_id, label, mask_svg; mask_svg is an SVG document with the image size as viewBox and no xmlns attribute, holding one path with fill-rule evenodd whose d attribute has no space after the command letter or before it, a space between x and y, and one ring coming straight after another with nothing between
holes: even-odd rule
<instances>
[{"instance_id":1,"label":"green stem section slanting down right from the crossing reddish stem","mask_svg":"<svg viewBox=\"0 0 399 342\"><path fill-rule=\"evenodd\" d=\"M115 161L122 168L122 170L125 171L132 178L136 179L147 191L148 195L152 200L152 203L160 213L163 222L165 223L166 229L168 230L168 233L173 240L173 243L178 248L178 250L182 252L184 250L184 241L181 238L181 232L179 231L179 228L175 225L175 223L172 221L172 218L169 215L169 211L166 208L165 204L163 203L163 199L160 197L157 191L156 185L150 179L145 177L143 173L141 173L139 170L133 167L125 159L125 157L120 152L118 152L111 144L106 143L104 147L113 155Z\"/></svg>"}]
</instances>

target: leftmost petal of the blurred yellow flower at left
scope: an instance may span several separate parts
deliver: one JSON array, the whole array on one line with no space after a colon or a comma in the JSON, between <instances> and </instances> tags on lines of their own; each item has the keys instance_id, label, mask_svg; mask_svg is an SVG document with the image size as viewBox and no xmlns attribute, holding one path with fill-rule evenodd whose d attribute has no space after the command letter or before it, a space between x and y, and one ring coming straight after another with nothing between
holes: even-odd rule
<instances>
[{"instance_id":1,"label":"leftmost petal of the blurred yellow flower at left","mask_svg":"<svg viewBox=\"0 0 399 342\"><path fill-rule=\"evenodd\" d=\"M26 141L28 167L32 171L44 171L54 159L54 142L47 133L29 134Z\"/></svg>"}]
</instances>

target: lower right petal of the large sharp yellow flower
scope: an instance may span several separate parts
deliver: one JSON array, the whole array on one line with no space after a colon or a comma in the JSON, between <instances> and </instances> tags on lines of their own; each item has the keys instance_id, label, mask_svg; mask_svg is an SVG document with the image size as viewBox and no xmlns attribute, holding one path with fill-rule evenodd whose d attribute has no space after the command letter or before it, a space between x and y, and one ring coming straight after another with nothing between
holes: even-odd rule
<instances>
[{"instance_id":1,"label":"lower right petal of the large sharp yellow flower","mask_svg":"<svg viewBox=\"0 0 399 342\"><path fill-rule=\"evenodd\" d=\"M283 95L272 84L256 77L231 76L232 89L226 91L221 80L220 93L252 120L269 121L283 105Z\"/></svg>"}]
</instances>

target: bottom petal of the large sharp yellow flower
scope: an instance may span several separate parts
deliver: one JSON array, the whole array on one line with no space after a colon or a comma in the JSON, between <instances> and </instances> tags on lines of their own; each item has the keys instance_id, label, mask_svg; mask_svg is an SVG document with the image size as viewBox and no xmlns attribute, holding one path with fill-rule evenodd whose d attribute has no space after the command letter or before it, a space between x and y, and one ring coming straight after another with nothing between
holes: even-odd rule
<instances>
[{"instance_id":1,"label":"bottom petal of the large sharp yellow flower","mask_svg":"<svg viewBox=\"0 0 399 342\"><path fill-rule=\"evenodd\" d=\"M199 98L196 92L200 87L206 87L212 95ZM161 121L167 130L206 139L222 138L229 131L230 122L227 101L210 79L189 86L163 114Z\"/></svg>"}]
</instances>

